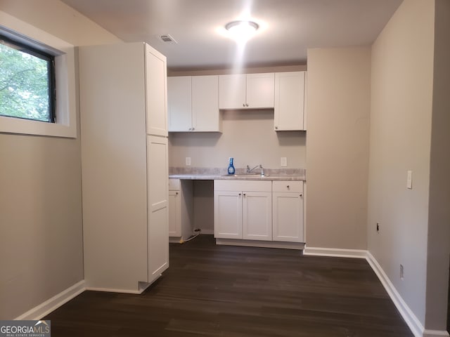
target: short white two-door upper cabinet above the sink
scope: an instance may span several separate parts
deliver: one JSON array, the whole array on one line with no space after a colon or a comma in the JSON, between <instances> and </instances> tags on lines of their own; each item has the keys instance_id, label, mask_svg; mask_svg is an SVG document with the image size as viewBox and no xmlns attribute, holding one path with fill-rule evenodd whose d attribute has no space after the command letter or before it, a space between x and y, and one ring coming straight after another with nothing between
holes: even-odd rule
<instances>
[{"instance_id":1,"label":"short white two-door upper cabinet above the sink","mask_svg":"<svg viewBox=\"0 0 450 337\"><path fill-rule=\"evenodd\" d=\"M274 73L220 75L219 108L273 108L274 87Z\"/></svg>"}]
</instances>

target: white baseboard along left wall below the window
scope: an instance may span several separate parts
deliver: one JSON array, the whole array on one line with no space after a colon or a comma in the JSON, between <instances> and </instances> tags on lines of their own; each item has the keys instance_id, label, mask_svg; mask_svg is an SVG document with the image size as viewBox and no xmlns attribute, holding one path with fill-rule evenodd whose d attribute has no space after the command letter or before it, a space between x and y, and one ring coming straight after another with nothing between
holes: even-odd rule
<instances>
[{"instance_id":1,"label":"white baseboard along left wall below the window","mask_svg":"<svg viewBox=\"0 0 450 337\"><path fill-rule=\"evenodd\" d=\"M86 290L86 287L84 286L84 280L82 280L82 281L78 282L77 284L70 286L70 288L65 289L64 291L61 291L60 293L53 296L49 300L46 300L44 303L41 303L41 304L37 305L36 307L32 308L31 310L28 310L23 315L20 315L19 317L15 317L15 320L41 319L42 317L49 315L49 313L52 312L53 310L58 309L64 303L67 303L69 300L71 300L75 296L78 296L84 290Z\"/></svg>"}]
</instances>

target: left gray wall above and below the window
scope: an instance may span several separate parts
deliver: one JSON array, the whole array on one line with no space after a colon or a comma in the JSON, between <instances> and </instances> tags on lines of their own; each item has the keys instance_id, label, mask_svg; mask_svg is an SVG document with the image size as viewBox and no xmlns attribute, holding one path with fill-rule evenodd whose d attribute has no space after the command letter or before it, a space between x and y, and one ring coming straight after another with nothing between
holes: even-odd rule
<instances>
[{"instance_id":1,"label":"left gray wall above and below the window","mask_svg":"<svg viewBox=\"0 0 450 337\"><path fill-rule=\"evenodd\" d=\"M1 1L0 11L75 46L119 41L60 1ZM79 137L0 134L0 319L83 279L80 153Z\"/></svg>"}]
</instances>

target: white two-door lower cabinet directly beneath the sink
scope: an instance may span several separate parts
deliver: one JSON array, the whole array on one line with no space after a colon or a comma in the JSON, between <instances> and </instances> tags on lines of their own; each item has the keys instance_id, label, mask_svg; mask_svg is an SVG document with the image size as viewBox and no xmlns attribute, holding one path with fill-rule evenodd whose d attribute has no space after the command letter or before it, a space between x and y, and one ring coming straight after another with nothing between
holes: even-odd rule
<instances>
[{"instance_id":1,"label":"white two-door lower cabinet directly beneath the sink","mask_svg":"<svg viewBox=\"0 0 450 337\"><path fill-rule=\"evenodd\" d=\"M270 181L214 180L214 237L271 240Z\"/></svg>"}]
</instances>

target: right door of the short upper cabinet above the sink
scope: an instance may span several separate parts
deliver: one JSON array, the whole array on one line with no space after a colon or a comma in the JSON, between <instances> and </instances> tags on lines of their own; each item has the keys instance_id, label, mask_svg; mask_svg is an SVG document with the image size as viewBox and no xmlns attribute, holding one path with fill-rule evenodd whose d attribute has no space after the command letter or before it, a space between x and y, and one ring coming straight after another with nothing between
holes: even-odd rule
<instances>
[{"instance_id":1,"label":"right door of the short upper cabinet above the sink","mask_svg":"<svg viewBox=\"0 0 450 337\"><path fill-rule=\"evenodd\" d=\"M275 74L247 74L246 106L274 107Z\"/></svg>"}]
</instances>

